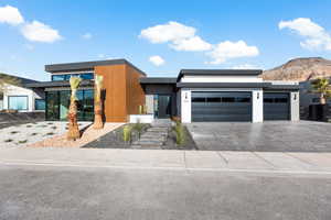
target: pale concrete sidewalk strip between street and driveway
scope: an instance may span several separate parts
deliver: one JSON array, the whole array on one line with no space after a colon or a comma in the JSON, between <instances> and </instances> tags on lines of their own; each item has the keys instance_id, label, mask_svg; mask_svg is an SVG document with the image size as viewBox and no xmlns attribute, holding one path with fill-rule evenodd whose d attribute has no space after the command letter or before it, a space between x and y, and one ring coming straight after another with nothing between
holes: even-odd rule
<instances>
[{"instance_id":1,"label":"pale concrete sidewalk strip between street and driveway","mask_svg":"<svg viewBox=\"0 0 331 220\"><path fill-rule=\"evenodd\" d=\"M0 164L331 174L331 153L17 147Z\"/></svg>"}]
</instances>

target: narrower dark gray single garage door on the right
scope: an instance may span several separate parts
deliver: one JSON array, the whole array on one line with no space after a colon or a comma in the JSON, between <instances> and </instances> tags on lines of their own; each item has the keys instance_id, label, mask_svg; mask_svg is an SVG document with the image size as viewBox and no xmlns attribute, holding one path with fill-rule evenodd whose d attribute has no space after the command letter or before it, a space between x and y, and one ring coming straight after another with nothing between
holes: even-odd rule
<instances>
[{"instance_id":1,"label":"narrower dark gray single garage door on the right","mask_svg":"<svg viewBox=\"0 0 331 220\"><path fill-rule=\"evenodd\" d=\"M264 94L264 120L289 120L289 94Z\"/></svg>"}]
</instances>

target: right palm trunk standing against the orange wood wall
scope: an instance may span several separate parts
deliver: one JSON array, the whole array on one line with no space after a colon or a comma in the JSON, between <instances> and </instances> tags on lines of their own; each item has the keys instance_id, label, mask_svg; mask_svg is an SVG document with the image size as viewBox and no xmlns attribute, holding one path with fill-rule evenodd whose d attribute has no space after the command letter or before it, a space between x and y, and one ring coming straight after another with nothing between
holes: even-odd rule
<instances>
[{"instance_id":1,"label":"right palm trunk standing against the orange wood wall","mask_svg":"<svg viewBox=\"0 0 331 220\"><path fill-rule=\"evenodd\" d=\"M102 103L102 88L103 88L104 77L96 75L94 79L94 129L103 129L103 103Z\"/></svg>"}]
</instances>

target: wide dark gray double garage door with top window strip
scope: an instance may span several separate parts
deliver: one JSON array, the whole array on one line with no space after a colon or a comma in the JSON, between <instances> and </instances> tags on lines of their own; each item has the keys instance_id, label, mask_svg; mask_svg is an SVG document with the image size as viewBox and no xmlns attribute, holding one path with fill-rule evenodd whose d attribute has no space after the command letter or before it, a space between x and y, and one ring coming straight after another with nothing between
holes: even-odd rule
<instances>
[{"instance_id":1,"label":"wide dark gray double garage door with top window strip","mask_svg":"<svg viewBox=\"0 0 331 220\"><path fill-rule=\"evenodd\" d=\"M193 91L192 121L252 121L252 94Z\"/></svg>"}]
</instances>

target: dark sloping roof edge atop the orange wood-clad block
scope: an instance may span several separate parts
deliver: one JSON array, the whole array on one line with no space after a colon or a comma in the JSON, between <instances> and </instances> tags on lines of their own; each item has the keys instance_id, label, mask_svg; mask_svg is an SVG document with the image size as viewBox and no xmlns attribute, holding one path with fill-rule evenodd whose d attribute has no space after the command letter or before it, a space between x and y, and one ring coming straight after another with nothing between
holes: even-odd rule
<instances>
[{"instance_id":1,"label":"dark sloping roof edge atop the orange wood-clad block","mask_svg":"<svg viewBox=\"0 0 331 220\"><path fill-rule=\"evenodd\" d=\"M119 58L119 59L106 59L106 61L93 61L93 62L77 62L77 63L64 63L64 64L50 64L45 65L45 72L58 73L58 72L76 72L76 70L93 70L95 66L107 66L107 65L121 65L127 64L138 70L140 74L146 74L136 67L130 62Z\"/></svg>"}]
</instances>

